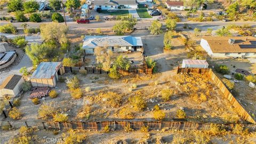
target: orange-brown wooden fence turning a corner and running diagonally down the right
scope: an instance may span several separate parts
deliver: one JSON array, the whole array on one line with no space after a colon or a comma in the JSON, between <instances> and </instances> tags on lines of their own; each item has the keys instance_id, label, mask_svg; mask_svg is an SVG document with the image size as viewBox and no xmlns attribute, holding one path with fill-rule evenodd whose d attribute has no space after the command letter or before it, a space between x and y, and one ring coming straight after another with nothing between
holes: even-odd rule
<instances>
[{"instance_id":1,"label":"orange-brown wooden fence turning a corner and running diagonally down the right","mask_svg":"<svg viewBox=\"0 0 256 144\"><path fill-rule=\"evenodd\" d=\"M211 77L214 85L216 85L220 91L223 93L223 97L227 99L231 105L234 107L236 112L239 116L241 116L245 121L256 124L255 120L252 118L252 116L247 113L245 108L236 100L233 94L229 92L227 87L222 83L221 79L215 75L210 68L179 68L177 70L177 74L179 73L199 73L199 74L206 74L209 77Z\"/></svg>"}]
</instances>

